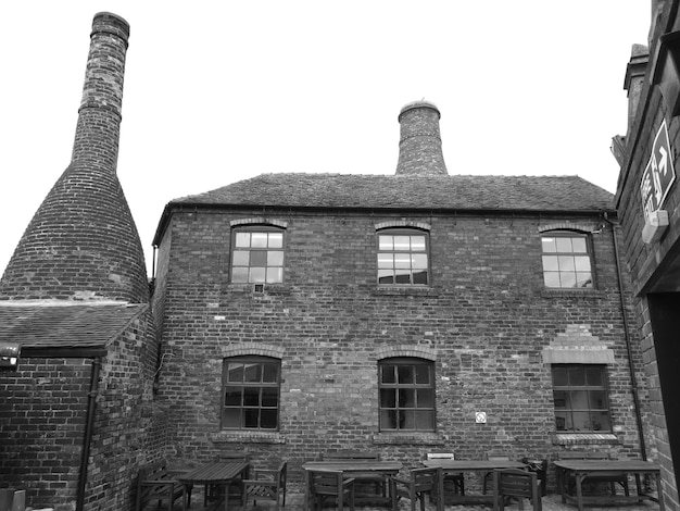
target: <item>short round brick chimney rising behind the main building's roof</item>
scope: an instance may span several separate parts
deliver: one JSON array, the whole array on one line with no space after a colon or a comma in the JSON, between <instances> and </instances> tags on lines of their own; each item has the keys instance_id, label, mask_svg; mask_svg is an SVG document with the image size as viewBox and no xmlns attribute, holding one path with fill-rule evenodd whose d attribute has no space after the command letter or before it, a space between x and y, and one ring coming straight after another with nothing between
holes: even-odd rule
<instances>
[{"instance_id":1,"label":"short round brick chimney rising behind the main building's roof","mask_svg":"<svg viewBox=\"0 0 680 511\"><path fill-rule=\"evenodd\" d=\"M396 175L448 175L441 151L439 109L428 101L416 101L399 114L400 140Z\"/></svg>"}]
</instances>

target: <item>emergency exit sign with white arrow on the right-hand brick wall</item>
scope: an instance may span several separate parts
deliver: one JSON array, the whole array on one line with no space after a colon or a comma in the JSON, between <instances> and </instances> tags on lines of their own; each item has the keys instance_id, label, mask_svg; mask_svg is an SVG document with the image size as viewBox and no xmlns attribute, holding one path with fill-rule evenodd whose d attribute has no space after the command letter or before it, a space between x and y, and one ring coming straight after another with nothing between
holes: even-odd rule
<instances>
[{"instance_id":1,"label":"emergency exit sign with white arrow on the right-hand brick wall","mask_svg":"<svg viewBox=\"0 0 680 511\"><path fill-rule=\"evenodd\" d=\"M642 183L640 183L642 208L647 223L652 222L654 213L664 205L668 190L675 180L676 171L672 165L666 120L664 120L656 137L654 137L652 154L650 154L650 161L642 174Z\"/></svg>"}]
</instances>

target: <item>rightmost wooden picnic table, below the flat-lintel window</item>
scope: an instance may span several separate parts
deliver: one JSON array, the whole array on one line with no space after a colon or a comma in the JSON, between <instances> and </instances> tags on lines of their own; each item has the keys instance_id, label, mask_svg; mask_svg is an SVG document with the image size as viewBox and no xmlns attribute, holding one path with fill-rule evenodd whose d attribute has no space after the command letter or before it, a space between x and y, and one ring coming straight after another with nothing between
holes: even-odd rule
<instances>
[{"instance_id":1,"label":"rightmost wooden picnic table, below the flat-lintel window","mask_svg":"<svg viewBox=\"0 0 680 511\"><path fill-rule=\"evenodd\" d=\"M588 500L601 503L616 503L622 500L642 500L648 499L658 502L660 511L664 511L664 494L662 493L662 475L660 468L650 461L643 460L557 460L554 462L557 469L557 488L562 495L562 501L574 500L574 496L568 493L568 478L574 476L576 483L576 504L579 511L583 511L583 490L582 483L588 476L617 476L632 474L635 476L635 485L638 487L637 496L596 496L588 497ZM656 479L657 498L646 495L642 491L640 483L641 475L652 475Z\"/></svg>"}]
</instances>

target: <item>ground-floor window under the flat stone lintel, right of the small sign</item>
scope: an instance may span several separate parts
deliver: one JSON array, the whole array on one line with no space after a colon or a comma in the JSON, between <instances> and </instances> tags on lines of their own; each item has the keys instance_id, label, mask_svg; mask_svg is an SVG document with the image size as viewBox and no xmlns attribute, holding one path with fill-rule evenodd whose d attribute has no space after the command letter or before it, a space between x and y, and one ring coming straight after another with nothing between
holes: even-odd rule
<instances>
[{"instance_id":1,"label":"ground-floor window under the flat stone lintel, right of the small sign","mask_svg":"<svg viewBox=\"0 0 680 511\"><path fill-rule=\"evenodd\" d=\"M554 364L553 399L558 432L610 432L606 365Z\"/></svg>"}]
</instances>

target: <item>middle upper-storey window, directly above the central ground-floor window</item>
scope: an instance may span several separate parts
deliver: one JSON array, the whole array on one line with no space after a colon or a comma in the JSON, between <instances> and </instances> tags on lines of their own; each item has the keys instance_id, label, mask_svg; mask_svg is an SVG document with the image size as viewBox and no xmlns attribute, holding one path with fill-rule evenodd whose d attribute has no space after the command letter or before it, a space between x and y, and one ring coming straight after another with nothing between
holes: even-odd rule
<instances>
[{"instance_id":1,"label":"middle upper-storey window, directly above the central ground-floor window","mask_svg":"<svg viewBox=\"0 0 680 511\"><path fill-rule=\"evenodd\" d=\"M378 284L427 285L428 235L417 229L378 233Z\"/></svg>"}]
</instances>

